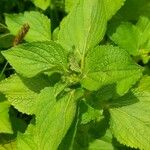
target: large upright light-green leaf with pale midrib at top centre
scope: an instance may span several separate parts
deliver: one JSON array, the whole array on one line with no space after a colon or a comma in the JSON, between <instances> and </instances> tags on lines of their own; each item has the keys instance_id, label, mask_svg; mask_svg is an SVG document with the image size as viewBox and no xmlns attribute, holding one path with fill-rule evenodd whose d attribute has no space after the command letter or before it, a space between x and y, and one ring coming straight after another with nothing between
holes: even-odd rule
<instances>
[{"instance_id":1,"label":"large upright light-green leaf with pale midrib at top centre","mask_svg":"<svg viewBox=\"0 0 150 150\"><path fill-rule=\"evenodd\" d=\"M123 0L119 0L118 3L112 0L78 0L62 21L59 42L68 51L75 50L78 58L84 61L86 52L102 40L108 19L122 3Z\"/></svg>"}]
</instances>

